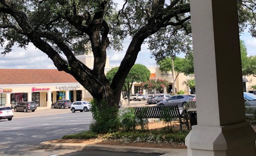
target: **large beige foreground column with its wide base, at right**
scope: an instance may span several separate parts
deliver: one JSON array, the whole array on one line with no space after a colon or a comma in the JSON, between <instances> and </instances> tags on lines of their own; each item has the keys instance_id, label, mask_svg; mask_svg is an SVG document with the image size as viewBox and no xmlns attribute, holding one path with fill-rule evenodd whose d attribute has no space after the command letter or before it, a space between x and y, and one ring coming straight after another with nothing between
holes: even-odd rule
<instances>
[{"instance_id":1,"label":"large beige foreground column with its wide base, at right","mask_svg":"<svg viewBox=\"0 0 256 156\"><path fill-rule=\"evenodd\" d=\"M188 156L255 156L256 133L245 121L236 0L190 2L198 125L185 139Z\"/></svg>"}]
</instances>

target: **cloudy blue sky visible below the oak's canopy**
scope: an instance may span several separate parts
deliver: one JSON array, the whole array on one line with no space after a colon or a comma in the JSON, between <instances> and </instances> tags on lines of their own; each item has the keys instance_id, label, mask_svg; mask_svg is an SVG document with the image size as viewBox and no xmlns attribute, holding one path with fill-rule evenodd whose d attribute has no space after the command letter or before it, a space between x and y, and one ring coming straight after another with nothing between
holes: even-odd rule
<instances>
[{"instance_id":1,"label":"cloudy blue sky visible below the oak's canopy","mask_svg":"<svg viewBox=\"0 0 256 156\"><path fill-rule=\"evenodd\" d=\"M245 41L248 56L256 55L256 38L252 38L248 32L241 35L240 39ZM111 66L119 66L122 58L124 58L125 51L129 44L129 39L124 40L123 51L117 52L113 50L107 51ZM0 48L0 52L2 52ZM141 51L137 57L137 61L147 67L155 67L156 61L150 58L148 46L143 44ZM48 56L35 48L33 44L29 44L27 49L13 47L12 51L5 56L0 54L0 69L56 69L52 60Z\"/></svg>"}]
</instances>

